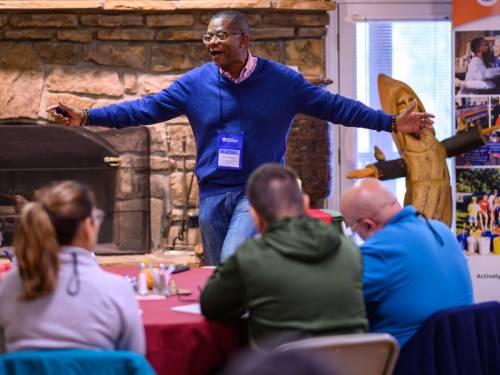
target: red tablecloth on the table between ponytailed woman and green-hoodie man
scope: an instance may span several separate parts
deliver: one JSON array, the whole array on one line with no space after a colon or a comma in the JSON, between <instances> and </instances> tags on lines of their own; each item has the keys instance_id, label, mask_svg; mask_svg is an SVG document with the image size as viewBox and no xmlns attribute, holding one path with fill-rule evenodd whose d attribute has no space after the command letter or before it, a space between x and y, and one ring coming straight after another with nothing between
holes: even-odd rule
<instances>
[{"instance_id":1,"label":"red tablecloth on the table between ponytailed woman and green-hoodie man","mask_svg":"<svg viewBox=\"0 0 500 375\"><path fill-rule=\"evenodd\" d=\"M121 275L137 275L136 267L106 267ZM243 321L208 321L201 315L172 311L174 306L197 303L212 269L192 269L173 275L177 287L190 296L140 301L146 332L146 357L158 374L205 375L219 367L247 343Z\"/></svg>"}]
</instances>

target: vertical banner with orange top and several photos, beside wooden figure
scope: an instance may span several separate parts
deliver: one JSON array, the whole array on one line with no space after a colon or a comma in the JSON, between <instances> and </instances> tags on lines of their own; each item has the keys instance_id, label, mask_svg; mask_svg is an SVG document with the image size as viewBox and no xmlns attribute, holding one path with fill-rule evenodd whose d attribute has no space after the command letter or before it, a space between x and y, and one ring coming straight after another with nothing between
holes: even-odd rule
<instances>
[{"instance_id":1,"label":"vertical banner with orange top and several photos, beside wooden figure","mask_svg":"<svg viewBox=\"0 0 500 375\"><path fill-rule=\"evenodd\" d=\"M457 238L470 255L477 302L500 300L500 0L453 0L456 132L484 145L458 155Z\"/></svg>"}]
</instances>

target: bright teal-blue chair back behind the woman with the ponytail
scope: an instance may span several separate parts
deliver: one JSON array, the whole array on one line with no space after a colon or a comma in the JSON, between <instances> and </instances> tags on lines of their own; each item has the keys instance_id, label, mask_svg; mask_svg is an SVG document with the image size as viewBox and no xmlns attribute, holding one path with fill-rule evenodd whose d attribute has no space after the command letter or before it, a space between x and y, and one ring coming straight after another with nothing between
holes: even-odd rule
<instances>
[{"instance_id":1,"label":"bright teal-blue chair back behind the woman with the ponytail","mask_svg":"<svg viewBox=\"0 0 500 375\"><path fill-rule=\"evenodd\" d=\"M154 375L142 355L86 349L36 350L0 356L2 375Z\"/></svg>"}]
</instances>

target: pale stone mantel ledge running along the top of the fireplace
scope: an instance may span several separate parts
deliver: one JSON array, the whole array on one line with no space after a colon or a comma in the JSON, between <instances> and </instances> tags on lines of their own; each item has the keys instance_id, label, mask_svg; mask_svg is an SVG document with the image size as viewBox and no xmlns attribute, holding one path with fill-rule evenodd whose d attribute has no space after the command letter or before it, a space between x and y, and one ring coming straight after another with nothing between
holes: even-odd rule
<instances>
[{"instance_id":1,"label":"pale stone mantel ledge running along the top of the fireplace","mask_svg":"<svg viewBox=\"0 0 500 375\"><path fill-rule=\"evenodd\" d=\"M200 9L279 9L282 11L328 11L328 0L0 0L2 10L109 10L178 11Z\"/></svg>"}]
</instances>

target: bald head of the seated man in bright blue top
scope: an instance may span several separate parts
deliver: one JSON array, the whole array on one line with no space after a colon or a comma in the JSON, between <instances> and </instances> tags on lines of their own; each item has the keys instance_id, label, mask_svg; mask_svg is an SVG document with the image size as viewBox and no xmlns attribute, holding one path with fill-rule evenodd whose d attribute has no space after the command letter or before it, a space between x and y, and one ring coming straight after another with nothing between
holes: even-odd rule
<instances>
[{"instance_id":1,"label":"bald head of the seated man in bright blue top","mask_svg":"<svg viewBox=\"0 0 500 375\"><path fill-rule=\"evenodd\" d=\"M351 228L366 239L396 215L401 206L379 180L365 178L343 194L340 210Z\"/></svg>"}]
</instances>

